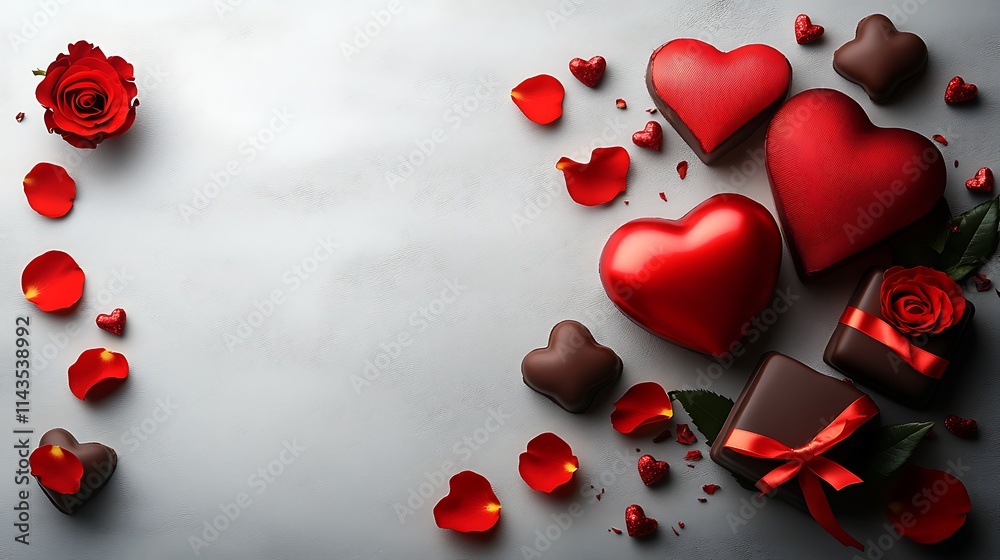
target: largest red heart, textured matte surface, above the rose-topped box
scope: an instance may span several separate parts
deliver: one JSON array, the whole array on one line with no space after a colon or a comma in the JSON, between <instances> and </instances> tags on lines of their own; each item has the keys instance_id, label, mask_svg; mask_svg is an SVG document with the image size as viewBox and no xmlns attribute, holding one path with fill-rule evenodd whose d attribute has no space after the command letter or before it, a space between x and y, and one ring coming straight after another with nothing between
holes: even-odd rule
<instances>
[{"instance_id":1,"label":"largest red heart, textured matte surface, above the rose-topped box","mask_svg":"<svg viewBox=\"0 0 1000 560\"><path fill-rule=\"evenodd\" d=\"M925 216L944 193L930 140L879 128L831 89L788 100L767 131L771 192L799 277L810 280Z\"/></svg>"}]
</instances>

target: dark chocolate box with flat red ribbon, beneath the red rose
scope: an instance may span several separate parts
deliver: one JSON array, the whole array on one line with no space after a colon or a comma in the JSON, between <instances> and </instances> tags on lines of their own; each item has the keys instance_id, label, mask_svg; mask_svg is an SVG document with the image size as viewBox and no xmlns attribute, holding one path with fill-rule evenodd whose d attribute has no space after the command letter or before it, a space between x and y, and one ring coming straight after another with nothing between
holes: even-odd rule
<instances>
[{"instance_id":1,"label":"dark chocolate box with flat red ribbon, beneath the red rose","mask_svg":"<svg viewBox=\"0 0 1000 560\"><path fill-rule=\"evenodd\" d=\"M885 272L876 268L862 277L833 331L823 360L851 379L900 403L924 406L947 373L976 310L962 298L964 313L941 332L917 335L900 332L883 313ZM957 285L953 289L961 294Z\"/></svg>"}]
</instances>

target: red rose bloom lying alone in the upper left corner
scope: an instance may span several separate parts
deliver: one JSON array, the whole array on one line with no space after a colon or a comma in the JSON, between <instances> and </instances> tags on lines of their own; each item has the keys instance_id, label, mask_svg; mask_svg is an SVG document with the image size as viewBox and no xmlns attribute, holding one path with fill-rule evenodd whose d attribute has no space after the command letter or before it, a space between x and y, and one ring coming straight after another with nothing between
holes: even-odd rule
<instances>
[{"instance_id":1,"label":"red rose bloom lying alone in the upper left corner","mask_svg":"<svg viewBox=\"0 0 1000 560\"><path fill-rule=\"evenodd\" d=\"M78 41L49 64L35 98L45 107L49 132L76 148L96 148L132 126L137 93L131 64Z\"/></svg>"}]
</instances>

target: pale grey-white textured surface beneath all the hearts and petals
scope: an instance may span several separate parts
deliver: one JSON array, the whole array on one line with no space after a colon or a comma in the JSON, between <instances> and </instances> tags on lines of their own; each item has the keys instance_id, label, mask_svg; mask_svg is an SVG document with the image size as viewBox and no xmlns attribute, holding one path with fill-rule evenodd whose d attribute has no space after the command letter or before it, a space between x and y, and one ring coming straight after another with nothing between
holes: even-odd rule
<instances>
[{"instance_id":1,"label":"pale grey-white textured surface beneath all the hearts and petals","mask_svg":"<svg viewBox=\"0 0 1000 560\"><path fill-rule=\"evenodd\" d=\"M877 124L928 136L942 132L951 141L942 147L947 198L960 211L982 200L966 192L964 180L980 166L1000 165L996 5L400 1L385 25L372 15L386 9L383 0L4 4L0 292L9 332L0 333L0 346L7 347L0 361L12 365L14 319L30 316L36 356L30 426L38 433L63 426L82 440L104 442L121 462L103 493L75 517L52 508L32 481L32 544L14 543L14 395L5 367L0 557L193 557L189 537L201 535L219 504L247 492L251 505L201 550L202 558L521 558L522 547L535 546L536 531L554 526L551 516L574 503L583 515L558 531L543 557L851 558L853 551L783 503L768 504L734 532L726 515L738 514L750 494L707 460L703 444L706 460L684 468L687 448L614 432L608 420L613 399L585 416L567 414L522 384L519 363L567 318L583 321L623 357L625 375L614 396L646 380L668 389L693 383L710 363L618 314L597 276L604 241L631 218L678 217L720 191L774 207L763 167L752 160L747 180L733 183L730 166L746 162L745 155L706 168L666 125L662 153L632 146L629 137L652 105L643 73L656 46L679 36L726 50L765 42L792 62L794 91L837 88L859 100ZM45 15L46 6L54 15ZM795 44L792 22L802 11L826 26L822 42ZM885 107L874 107L831 68L833 51L875 11L919 33L931 53L920 83ZM24 18L42 25L25 29ZM377 34L364 44L357 34L366 25ZM30 71L77 39L124 56L138 77L142 104L135 126L96 151L77 151L48 135L34 99L39 79ZM342 45L354 41L363 47L345 56ZM607 57L609 69L590 90L566 65L594 54ZM528 122L508 96L519 81L543 72L567 89L565 114L551 127ZM980 86L977 107L942 101L956 74ZM628 110L615 109L617 97L628 101ZM20 124L13 118L18 111L27 113ZM275 111L290 114L290 122L272 121ZM250 150L248 136L267 142ZM390 188L387 175L400 172L401 158L427 138L437 138L434 152ZM759 137L756 142L751 147L759 146ZM632 154L627 195L605 208L572 203L555 161L585 159L593 145L609 144ZM683 182L674 170L682 159L691 162ZM960 160L958 169L953 159ZM62 164L77 180L79 197L65 219L40 217L24 200L21 178L38 161ZM239 174L225 188L206 191L230 162ZM660 200L660 191L669 202ZM194 204L199 208L185 214L184 206ZM514 215L529 223L518 229ZM312 263L318 239L338 247ZM23 266L50 249L68 251L87 273L83 303L69 317L40 313L20 294ZM711 388L735 397L767 350L832 373L822 363L823 348L871 262L805 287L786 251L779 286L801 298ZM312 264L298 285L285 276ZM995 259L984 272L1000 280ZM462 286L459 296L436 301L446 282ZM241 321L257 318L255 301L274 290L282 291L283 303L254 321L257 326L240 330ZM935 406L921 412L875 399L887 422L940 421L952 412L979 419L979 441L935 428L917 457L925 466L961 460L970 467L964 482L973 513L960 542L902 542L873 554L1000 556L994 429L1000 422L1000 300L992 291L967 296L978 310L974 344ZM98 312L119 306L129 314L121 339L93 325ZM430 319L421 318L421 309ZM357 391L352 376L361 376L366 360L376 360L381 345L391 349L401 333L412 342L388 364L380 361L384 367ZM240 344L227 345L227 337ZM103 402L81 403L67 388L66 368L80 351L105 345L128 356L129 381ZM158 422L160 402L176 410ZM490 411L509 418L486 432L493 426ZM142 441L126 435L133 429ZM580 457L577 480L585 492L554 499L518 477L518 453L550 430ZM480 443L464 440L477 436ZM250 477L279 459L286 441L305 450L258 493L260 479ZM642 485L635 447L671 463L668 484ZM406 504L425 473L433 475L446 461L493 483L503 519L491 538L436 528L431 508L446 488L434 484L425 485L433 492L414 515L402 524L397 518L395 505ZM606 488L603 500L593 499L591 483ZM723 490L700 504L695 498L706 483ZM659 519L658 538L640 542L608 533L610 526L623 528L622 512L633 502ZM863 541L884 534L882 512L842 519ZM678 521L687 528L675 537L669 526Z\"/></svg>"}]
</instances>

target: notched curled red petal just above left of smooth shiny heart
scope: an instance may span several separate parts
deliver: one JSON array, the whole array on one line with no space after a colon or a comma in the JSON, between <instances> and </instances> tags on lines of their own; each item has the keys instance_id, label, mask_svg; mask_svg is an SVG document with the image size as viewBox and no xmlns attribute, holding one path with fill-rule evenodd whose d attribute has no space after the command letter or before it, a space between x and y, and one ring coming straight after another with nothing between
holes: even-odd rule
<instances>
[{"instance_id":1,"label":"notched curled red petal just above left of smooth shiny heart","mask_svg":"<svg viewBox=\"0 0 1000 560\"><path fill-rule=\"evenodd\" d=\"M556 169L563 172L566 190L577 204L597 206L607 204L625 192L628 151L621 146L594 148L590 162L578 163L567 157L556 162Z\"/></svg>"}]
</instances>

